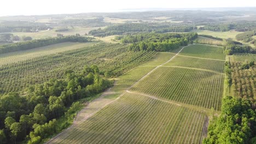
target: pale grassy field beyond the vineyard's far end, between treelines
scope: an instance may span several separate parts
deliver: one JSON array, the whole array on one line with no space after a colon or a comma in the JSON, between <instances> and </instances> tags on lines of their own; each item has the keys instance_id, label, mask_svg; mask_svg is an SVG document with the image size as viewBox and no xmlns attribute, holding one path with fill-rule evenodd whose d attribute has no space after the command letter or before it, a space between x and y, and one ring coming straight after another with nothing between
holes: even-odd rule
<instances>
[{"instance_id":1,"label":"pale grassy field beyond the vineyard's far end, between treelines","mask_svg":"<svg viewBox=\"0 0 256 144\"><path fill-rule=\"evenodd\" d=\"M228 31L228 32L213 32L213 31L207 31L207 30L193 30L193 32L197 32L198 34L205 34L205 35L212 35L213 37L218 38L224 38L224 39L236 39L236 35L240 34L242 32L236 32L236 31Z\"/></svg>"}]
</instances>

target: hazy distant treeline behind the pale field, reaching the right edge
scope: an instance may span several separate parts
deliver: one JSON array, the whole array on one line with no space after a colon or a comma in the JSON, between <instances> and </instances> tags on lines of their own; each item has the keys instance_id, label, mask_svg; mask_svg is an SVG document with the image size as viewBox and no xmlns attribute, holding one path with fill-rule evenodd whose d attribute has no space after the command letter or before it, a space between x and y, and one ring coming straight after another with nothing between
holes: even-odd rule
<instances>
[{"instance_id":1,"label":"hazy distant treeline behind the pale field, reaching the right edge","mask_svg":"<svg viewBox=\"0 0 256 144\"><path fill-rule=\"evenodd\" d=\"M200 27L199 29L209 30L209 31L220 31L226 32L234 29L238 32L252 31L256 27L255 22L231 22L231 23L208 23L204 27Z\"/></svg>"}]
</instances>

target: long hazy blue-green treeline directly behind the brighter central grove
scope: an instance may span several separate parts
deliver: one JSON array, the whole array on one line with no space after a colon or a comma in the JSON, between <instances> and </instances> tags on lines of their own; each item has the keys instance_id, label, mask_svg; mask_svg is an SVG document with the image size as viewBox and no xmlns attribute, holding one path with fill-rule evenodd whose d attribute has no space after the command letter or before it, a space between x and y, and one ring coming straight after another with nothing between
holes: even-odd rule
<instances>
[{"instance_id":1,"label":"long hazy blue-green treeline directly behind the brighter central grove","mask_svg":"<svg viewBox=\"0 0 256 144\"><path fill-rule=\"evenodd\" d=\"M108 26L104 29L95 29L89 34L95 37L106 37L108 35L128 35L136 33L166 33L166 32L189 32L197 27L191 25L173 24L173 23L124 23L119 25Z\"/></svg>"}]
</instances>

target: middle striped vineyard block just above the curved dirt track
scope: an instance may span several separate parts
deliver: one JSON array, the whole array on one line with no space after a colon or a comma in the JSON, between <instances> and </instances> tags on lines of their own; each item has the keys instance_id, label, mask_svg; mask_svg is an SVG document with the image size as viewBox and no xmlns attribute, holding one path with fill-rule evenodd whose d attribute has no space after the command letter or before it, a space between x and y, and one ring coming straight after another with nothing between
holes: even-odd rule
<instances>
[{"instance_id":1,"label":"middle striped vineyard block just above the curved dirt track","mask_svg":"<svg viewBox=\"0 0 256 144\"><path fill-rule=\"evenodd\" d=\"M223 80L224 75L210 71L160 67L131 90L219 110Z\"/></svg>"}]
</instances>

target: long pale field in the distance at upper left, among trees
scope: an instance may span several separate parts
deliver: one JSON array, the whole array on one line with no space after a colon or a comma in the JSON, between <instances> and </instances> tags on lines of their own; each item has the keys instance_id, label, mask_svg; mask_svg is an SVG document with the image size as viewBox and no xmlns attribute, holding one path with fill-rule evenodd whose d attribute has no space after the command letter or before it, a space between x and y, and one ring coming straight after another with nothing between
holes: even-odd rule
<instances>
[{"instance_id":1,"label":"long pale field in the distance at upper left, among trees","mask_svg":"<svg viewBox=\"0 0 256 144\"><path fill-rule=\"evenodd\" d=\"M39 31L38 33L24 33L24 32L16 32L13 33L14 35L18 35L19 37L26 36L26 37L32 37L33 39L42 39L42 38L48 38L48 37L56 37L58 33L63 35L75 35L79 33L80 35L84 35L85 33L88 34L89 31L97 29L90 28L90 27L74 27L72 29L69 29L68 31L64 32L55 32L55 29L51 29L50 31Z\"/></svg>"}]
</instances>

